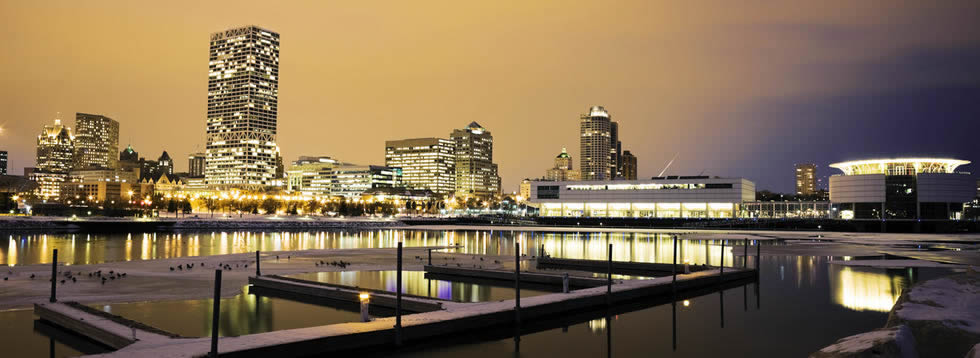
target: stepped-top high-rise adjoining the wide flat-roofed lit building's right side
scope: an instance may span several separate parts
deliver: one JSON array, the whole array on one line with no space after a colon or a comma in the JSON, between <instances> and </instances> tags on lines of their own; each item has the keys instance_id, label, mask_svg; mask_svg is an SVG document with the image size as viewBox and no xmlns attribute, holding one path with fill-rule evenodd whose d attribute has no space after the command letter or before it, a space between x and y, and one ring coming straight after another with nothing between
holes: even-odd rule
<instances>
[{"instance_id":1,"label":"stepped-top high-rise adjoining the wide flat-roofed lit building's right side","mask_svg":"<svg viewBox=\"0 0 980 358\"><path fill-rule=\"evenodd\" d=\"M500 176L493 163L493 135L479 123L450 135L456 147L456 196L489 198L500 194Z\"/></svg>"}]
</instances>

